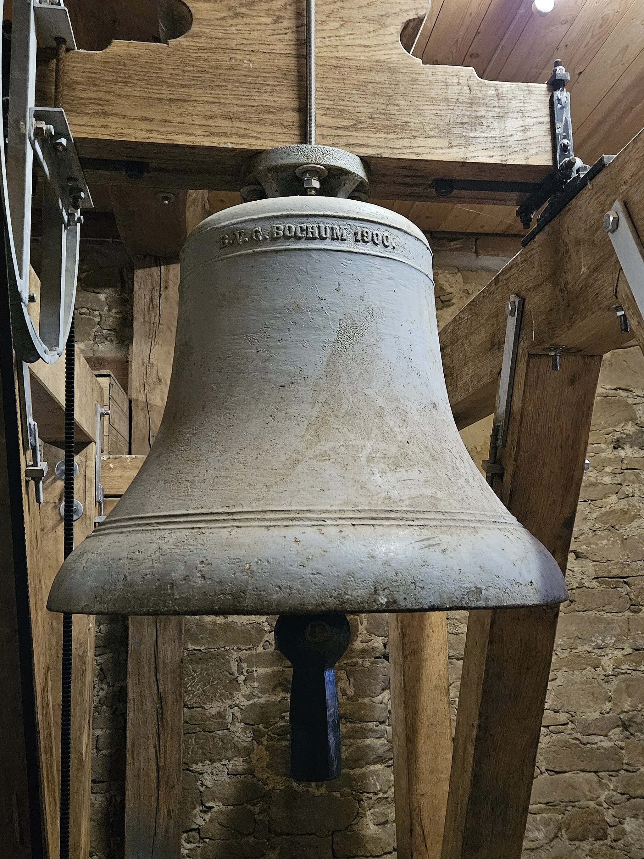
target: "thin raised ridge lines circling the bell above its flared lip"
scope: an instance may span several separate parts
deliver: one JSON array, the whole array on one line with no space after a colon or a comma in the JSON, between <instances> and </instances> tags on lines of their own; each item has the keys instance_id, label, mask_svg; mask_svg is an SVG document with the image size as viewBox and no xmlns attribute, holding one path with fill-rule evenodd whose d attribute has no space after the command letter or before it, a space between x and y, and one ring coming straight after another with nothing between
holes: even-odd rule
<instances>
[{"instance_id":1,"label":"thin raised ridge lines circling the bell above its flared lip","mask_svg":"<svg viewBox=\"0 0 644 859\"><path fill-rule=\"evenodd\" d=\"M227 512L204 510L181 510L153 515L133 515L110 518L101 523L94 533L126 531L130 528L152 530L155 528L195 527L271 527L297 525L400 525L446 527L459 525L519 526L519 522L507 515L487 515L483 512L465 514L458 512L445 515L431 510L234 510Z\"/></svg>"}]
</instances>

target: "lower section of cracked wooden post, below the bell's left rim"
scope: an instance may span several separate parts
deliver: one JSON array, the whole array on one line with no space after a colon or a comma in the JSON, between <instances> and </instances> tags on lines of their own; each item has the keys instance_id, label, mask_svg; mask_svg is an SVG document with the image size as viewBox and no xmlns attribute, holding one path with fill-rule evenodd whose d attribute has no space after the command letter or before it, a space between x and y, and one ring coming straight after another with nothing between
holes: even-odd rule
<instances>
[{"instance_id":1,"label":"lower section of cracked wooden post, below the bell's left rim","mask_svg":"<svg viewBox=\"0 0 644 859\"><path fill-rule=\"evenodd\" d=\"M180 853L183 648L183 618L130 618L125 859Z\"/></svg>"}]
</instances>

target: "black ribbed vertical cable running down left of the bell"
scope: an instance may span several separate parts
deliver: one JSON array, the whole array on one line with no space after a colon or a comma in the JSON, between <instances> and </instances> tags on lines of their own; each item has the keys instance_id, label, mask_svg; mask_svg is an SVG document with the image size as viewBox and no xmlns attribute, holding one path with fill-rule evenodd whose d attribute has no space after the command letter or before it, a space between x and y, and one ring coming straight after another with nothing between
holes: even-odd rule
<instances>
[{"instance_id":1,"label":"black ribbed vertical cable running down left of the bell","mask_svg":"<svg viewBox=\"0 0 644 859\"><path fill-rule=\"evenodd\" d=\"M74 318L65 344L65 450L63 555L74 551L74 376L76 346ZM63 665L60 714L60 859L70 859L71 771L71 614L63 615Z\"/></svg>"}]
</instances>

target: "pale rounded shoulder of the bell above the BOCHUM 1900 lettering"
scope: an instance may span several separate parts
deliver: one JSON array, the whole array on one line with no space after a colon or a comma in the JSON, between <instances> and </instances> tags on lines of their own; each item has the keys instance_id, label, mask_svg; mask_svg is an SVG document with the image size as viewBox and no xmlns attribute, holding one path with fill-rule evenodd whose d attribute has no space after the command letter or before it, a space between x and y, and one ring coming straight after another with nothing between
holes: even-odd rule
<instances>
[{"instance_id":1,"label":"pale rounded shoulder of the bell above the BOCHUM 1900 lettering","mask_svg":"<svg viewBox=\"0 0 644 859\"><path fill-rule=\"evenodd\" d=\"M288 210L288 211L287 211ZM349 200L341 197L270 197L262 200L252 200L250 203L240 203L234 206L229 206L228 209L222 209L209 215L204 221L197 224L191 229L187 235L184 248L181 251L180 258L183 259L185 247L188 242L197 235L208 232L210 229L226 227L229 224L239 224L241 221L250 221L257 217L270 216L276 214L279 216L289 215L319 215L319 216L344 216L355 217L361 221L373 221L380 226L385 224L392 229L400 229L405 233L413 236L413 238L421 241L432 254L432 249L429 247L427 236L422 230L416 227L416 224L411 222L409 218L398 214L391 209L385 209L375 203L363 203L361 200Z\"/></svg>"}]
</instances>

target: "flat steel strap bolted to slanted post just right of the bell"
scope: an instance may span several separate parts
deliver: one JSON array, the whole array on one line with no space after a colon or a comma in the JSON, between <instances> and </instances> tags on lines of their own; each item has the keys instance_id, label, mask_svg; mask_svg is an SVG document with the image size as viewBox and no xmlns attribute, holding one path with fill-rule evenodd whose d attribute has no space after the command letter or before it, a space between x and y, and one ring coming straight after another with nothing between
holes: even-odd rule
<instances>
[{"instance_id":1,"label":"flat steel strap bolted to slanted post just right of the bell","mask_svg":"<svg viewBox=\"0 0 644 859\"><path fill-rule=\"evenodd\" d=\"M503 359L499 390L496 394L495 415L492 422L492 434L489 439L489 458L483 460L485 479L491 486L494 479L503 476L503 466L497 460L499 450L507 444L507 425L510 422L512 395L514 390L514 375L519 354L519 337L523 320L523 299L519 295L510 295L506 302L506 339L503 344Z\"/></svg>"}]
</instances>

